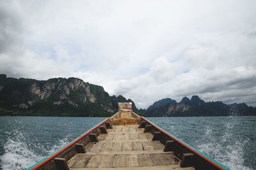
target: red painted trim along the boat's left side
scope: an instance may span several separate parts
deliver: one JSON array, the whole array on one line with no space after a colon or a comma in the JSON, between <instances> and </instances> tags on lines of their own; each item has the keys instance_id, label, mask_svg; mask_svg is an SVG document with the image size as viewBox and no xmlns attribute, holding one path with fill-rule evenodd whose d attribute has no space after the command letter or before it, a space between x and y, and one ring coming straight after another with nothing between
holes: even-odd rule
<instances>
[{"instance_id":1,"label":"red painted trim along the boat's left side","mask_svg":"<svg viewBox=\"0 0 256 170\"><path fill-rule=\"evenodd\" d=\"M78 141L80 141L82 138L84 138L84 136L87 136L88 134L90 134L91 132L93 132L95 129L97 129L100 125L104 124L105 122L107 122L109 120L109 118L106 118L105 120L103 120L102 122L100 122L99 124L95 125L95 127L93 127L92 129L90 129L89 131L85 132L84 134L82 134L81 136L79 136L79 138L76 138L74 141L72 141L71 143L69 143L67 146L61 148L60 150L58 150L58 152L52 154L50 157L47 157L47 159L45 159L44 161L40 162L39 164L37 164L36 166L32 167L31 169L38 169L43 167L45 164L47 164L48 162L50 162L52 159L56 158L58 155L60 155L60 153L63 153L65 150L67 150L68 148L70 148L71 146L75 145Z\"/></svg>"}]
</instances>

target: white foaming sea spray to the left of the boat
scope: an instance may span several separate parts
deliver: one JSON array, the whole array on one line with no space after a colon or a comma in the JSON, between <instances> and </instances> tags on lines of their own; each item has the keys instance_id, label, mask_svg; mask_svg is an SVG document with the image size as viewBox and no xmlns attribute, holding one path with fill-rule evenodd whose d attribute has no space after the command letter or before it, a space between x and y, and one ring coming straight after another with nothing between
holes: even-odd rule
<instances>
[{"instance_id":1,"label":"white foaming sea spray to the left of the boat","mask_svg":"<svg viewBox=\"0 0 256 170\"><path fill-rule=\"evenodd\" d=\"M0 169L26 169L69 143L70 134L67 134L65 138L56 139L53 146L52 143L42 145L33 134L24 132L22 122L14 121L8 124L15 124L17 128L4 132L8 138L3 145L4 153L0 155ZM29 139L34 139L34 142Z\"/></svg>"}]
</instances>

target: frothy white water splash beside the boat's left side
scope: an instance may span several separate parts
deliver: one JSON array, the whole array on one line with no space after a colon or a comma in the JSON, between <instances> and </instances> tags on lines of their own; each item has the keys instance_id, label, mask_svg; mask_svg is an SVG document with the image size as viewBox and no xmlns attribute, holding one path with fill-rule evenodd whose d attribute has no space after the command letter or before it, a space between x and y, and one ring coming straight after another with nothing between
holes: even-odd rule
<instances>
[{"instance_id":1,"label":"frothy white water splash beside the boat's left side","mask_svg":"<svg viewBox=\"0 0 256 170\"><path fill-rule=\"evenodd\" d=\"M26 138L28 135L16 129L12 132L6 132L8 134L14 134L15 138L9 137L7 142L4 144L4 154L0 156L0 169L26 169L39 160L43 159L47 155L56 152L62 146L67 145L68 137L59 139L56 145L50 147L50 149L45 148L43 145L36 145L35 143L27 143ZM11 136L11 135L10 135ZM43 150L44 155L40 155L31 149L38 148L38 150ZM49 144L48 144L49 145Z\"/></svg>"}]
</instances>

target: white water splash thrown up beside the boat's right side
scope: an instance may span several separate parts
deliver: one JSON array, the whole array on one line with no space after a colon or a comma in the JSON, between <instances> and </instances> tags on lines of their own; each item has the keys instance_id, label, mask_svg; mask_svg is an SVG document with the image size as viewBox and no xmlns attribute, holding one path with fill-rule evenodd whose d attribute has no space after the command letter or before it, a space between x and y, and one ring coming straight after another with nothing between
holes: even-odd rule
<instances>
[{"instance_id":1,"label":"white water splash thrown up beside the boat's right side","mask_svg":"<svg viewBox=\"0 0 256 170\"><path fill-rule=\"evenodd\" d=\"M207 142L199 144L196 148L230 169L250 170L244 166L244 146L249 139L234 138L232 130L235 125L236 120L230 117L224 126L223 135L219 137L214 134L214 127L207 126L203 140Z\"/></svg>"}]
</instances>

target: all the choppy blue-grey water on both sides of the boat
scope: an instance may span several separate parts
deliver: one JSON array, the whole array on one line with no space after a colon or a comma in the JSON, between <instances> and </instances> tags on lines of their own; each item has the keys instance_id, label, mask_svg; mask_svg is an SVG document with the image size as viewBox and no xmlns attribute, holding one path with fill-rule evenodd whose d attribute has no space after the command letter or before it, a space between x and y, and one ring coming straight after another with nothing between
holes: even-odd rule
<instances>
[{"instance_id":1,"label":"all the choppy blue-grey water on both sides of the boat","mask_svg":"<svg viewBox=\"0 0 256 170\"><path fill-rule=\"evenodd\" d=\"M256 169L256 117L148 119L230 169ZM26 169L102 120L0 117L0 169Z\"/></svg>"}]
</instances>

